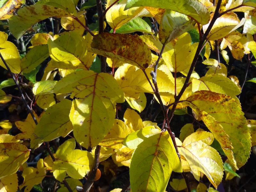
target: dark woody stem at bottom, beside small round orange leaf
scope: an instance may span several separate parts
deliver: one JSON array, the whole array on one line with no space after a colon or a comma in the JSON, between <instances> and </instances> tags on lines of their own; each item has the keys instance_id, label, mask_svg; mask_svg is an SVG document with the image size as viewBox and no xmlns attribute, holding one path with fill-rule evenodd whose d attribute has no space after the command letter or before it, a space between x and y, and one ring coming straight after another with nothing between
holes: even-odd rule
<instances>
[{"instance_id":1,"label":"dark woody stem at bottom, beside small round orange leaf","mask_svg":"<svg viewBox=\"0 0 256 192\"><path fill-rule=\"evenodd\" d=\"M89 192L89 190L92 187L92 184L94 182L95 176L96 176L96 172L100 163L100 145L97 145L96 149L95 149L95 154L94 154L94 162L93 162L93 166L92 166L92 170L89 173L88 179L85 183L85 185L83 186L84 191L85 192Z\"/></svg>"}]
</instances>

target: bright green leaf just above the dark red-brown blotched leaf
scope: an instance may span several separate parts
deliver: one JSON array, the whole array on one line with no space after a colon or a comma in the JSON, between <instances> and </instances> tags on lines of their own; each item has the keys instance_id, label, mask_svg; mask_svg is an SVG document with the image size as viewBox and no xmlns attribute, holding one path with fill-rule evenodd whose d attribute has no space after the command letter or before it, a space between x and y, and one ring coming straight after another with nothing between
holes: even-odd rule
<instances>
[{"instance_id":1,"label":"bright green leaf just above the dark red-brown blotched leaf","mask_svg":"<svg viewBox=\"0 0 256 192\"><path fill-rule=\"evenodd\" d=\"M136 17L135 19L125 23L120 28L116 30L116 33L125 34L125 33L133 33L136 31L152 33L151 27L148 25L146 21L141 19L140 17ZM113 33L113 29L110 30L110 33Z\"/></svg>"}]
</instances>

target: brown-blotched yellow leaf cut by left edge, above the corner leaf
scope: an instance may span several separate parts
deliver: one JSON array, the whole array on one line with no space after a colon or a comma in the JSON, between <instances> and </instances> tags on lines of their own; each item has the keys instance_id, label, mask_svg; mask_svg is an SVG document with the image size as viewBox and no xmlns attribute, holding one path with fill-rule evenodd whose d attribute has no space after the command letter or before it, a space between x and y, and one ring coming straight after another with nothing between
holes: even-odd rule
<instances>
[{"instance_id":1,"label":"brown-blotched yellow leaf cut by left edge, above the corner leaf","mask_svg":"<svg viewBox=\"0 0 256 192\"><path fill-rule=\"evenodd\" d=\"M29 157L29 150L20 143L0 143L0 151L0 179L17 172Z\"/></svg>"}]
</instances>

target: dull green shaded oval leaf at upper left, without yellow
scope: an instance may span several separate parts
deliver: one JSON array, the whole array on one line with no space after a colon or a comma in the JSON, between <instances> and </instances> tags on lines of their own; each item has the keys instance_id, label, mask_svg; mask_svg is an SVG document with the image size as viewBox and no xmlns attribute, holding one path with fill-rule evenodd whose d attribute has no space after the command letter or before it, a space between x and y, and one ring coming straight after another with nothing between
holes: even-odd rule
<instances>
[{"instance_id":1,"label":"dull green shaded oval leaf at upper left, without yellow","mask_svg":"<svg viewBox=\"0 0 256 192\"><path fill-rule=\"evenodd\" d=\"M23 73L30 73L49 57L48 45L37 45L31 48L25 57L21 59L20 68Z\"/></svg>"}]
</instances>

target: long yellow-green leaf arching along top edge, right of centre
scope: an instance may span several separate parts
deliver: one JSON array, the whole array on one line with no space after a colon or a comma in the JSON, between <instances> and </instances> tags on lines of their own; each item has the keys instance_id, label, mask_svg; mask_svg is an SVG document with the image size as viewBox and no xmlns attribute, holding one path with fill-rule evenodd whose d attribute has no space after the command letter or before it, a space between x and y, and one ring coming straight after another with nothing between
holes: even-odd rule
<instances>
[{"instance_id":1,"label":"long yellow-green leaf arching along top edge, right of centre","mask_svg":"<svg viewBox=\"0 0 256 192\"><path fill-rule=\"evenodd\" d=\"M140 6L170 9L188 15L200 24L207 24L210 20L207 8L197 0L128 0L125 9Z\"/></svg>"}]
</instances>

